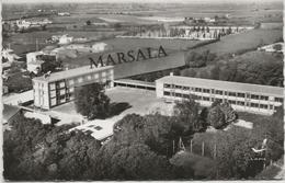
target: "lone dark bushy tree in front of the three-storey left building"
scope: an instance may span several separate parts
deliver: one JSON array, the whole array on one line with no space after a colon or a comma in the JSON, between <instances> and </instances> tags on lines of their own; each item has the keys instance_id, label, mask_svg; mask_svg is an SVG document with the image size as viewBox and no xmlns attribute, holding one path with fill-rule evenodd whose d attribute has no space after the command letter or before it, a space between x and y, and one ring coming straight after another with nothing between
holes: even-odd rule
<instances>
[{"instance_id":1,"label":"lone dark bushy tree in front of the three-storey left building","mask_svg":"<svg viewBox=\"0 0 285 183\"><path fill-rule=\"evenodd\" d=\"M110 114L110 99L101 83L92 83L76 88L77 112L88 119L105 118Z\"/></svg>"}]
</instances>

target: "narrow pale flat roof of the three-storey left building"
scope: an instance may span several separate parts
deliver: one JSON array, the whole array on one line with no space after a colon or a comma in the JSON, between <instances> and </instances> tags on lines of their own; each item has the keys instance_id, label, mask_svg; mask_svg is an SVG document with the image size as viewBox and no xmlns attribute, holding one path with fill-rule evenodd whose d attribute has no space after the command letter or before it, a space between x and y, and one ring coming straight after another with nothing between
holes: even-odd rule
<instances>
[{"instance_id":1,"label":"narrow pale flat roof of the three-storey left building","mask_svg":"<svg viewBox=\"0 0 285 183\"><path fill-rule=\"evenodd\" d=\"M93 66L93 68L91 69L90 66L83 66L83 67L79 67L79 68L75 68L75 69L70 69L70 70L54 72L54 73L50 73L48 77L44 77L44 76L37 77L37 78L34 78L33 80L53 82L53 81L58 81L58 80L62 80L62 79L84 76L84 75L93 73L93 72L98 72L98 71L109 70L109 69L112 69L113 67L114 66L105 66L105 67L95 68Z\"/></svg>"}]
</instances>

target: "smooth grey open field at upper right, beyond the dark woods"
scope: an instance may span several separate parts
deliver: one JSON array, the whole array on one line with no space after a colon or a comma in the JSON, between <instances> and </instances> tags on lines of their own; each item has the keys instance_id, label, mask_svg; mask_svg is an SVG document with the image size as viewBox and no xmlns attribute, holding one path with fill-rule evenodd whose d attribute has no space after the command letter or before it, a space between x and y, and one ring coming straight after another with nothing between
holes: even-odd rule
<instances>
[{"instance_id":1,"label":"smooth grey open field at upper right, beyond the dark woods","mask_svg":"<svg viewBox=\"0 0 285 183\"><path fill-rule=\"evenodd\" d=\"M243 50L256 49L260 45L278 42L282 37L282 30L252 30L246 33L221 37L220 42L198 47L193 50L202 53L209 49L210 53L217 55L237 54Z\"/></svg>"}]
</instances>

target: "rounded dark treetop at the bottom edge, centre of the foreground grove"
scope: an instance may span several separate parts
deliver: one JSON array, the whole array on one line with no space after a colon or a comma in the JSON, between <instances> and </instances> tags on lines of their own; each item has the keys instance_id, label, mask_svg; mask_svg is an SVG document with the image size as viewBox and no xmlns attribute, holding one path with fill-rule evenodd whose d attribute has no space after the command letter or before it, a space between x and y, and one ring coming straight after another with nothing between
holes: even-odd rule
<instances>
[{"instance_id":1,"label":"rounded dark treetop at the bottom edge, centre of the foreground grove","mask_svg":"<svg viewBox=\"0 0 285 183\"><path fill-rule=\"evenodd\" d=\"M119 149L112 157L111 164L114 179L167 180L171 176L167 159L141 144Z\"/></svg>"}]
</instances>

